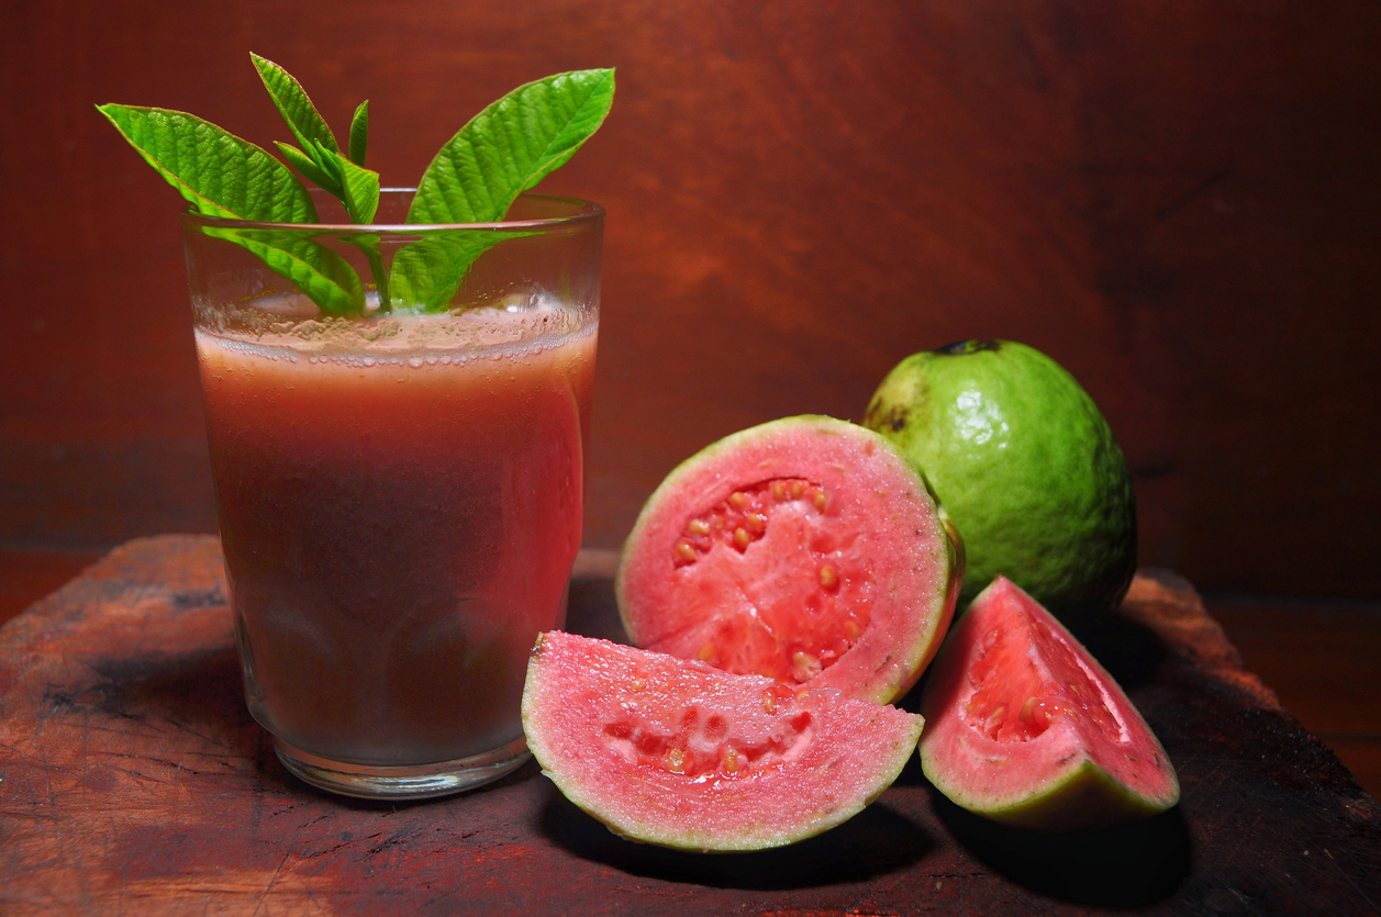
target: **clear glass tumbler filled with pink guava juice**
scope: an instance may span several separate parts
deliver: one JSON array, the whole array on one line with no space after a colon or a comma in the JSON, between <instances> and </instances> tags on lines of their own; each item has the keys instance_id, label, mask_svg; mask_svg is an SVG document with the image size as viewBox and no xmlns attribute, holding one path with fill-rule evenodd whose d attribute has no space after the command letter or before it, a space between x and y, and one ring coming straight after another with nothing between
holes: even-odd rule
<instances>
[{"instance_id":1,"label":"clear glass tumbler filled with pink guava juice","mask_svg":"<svg viewBox=\"0 0 1381 917\"><path fill-rule=\"evenodd\" d=\"M182 220L249 708L290 772L373 798L528 758L519 700L533 639L565 621L599 325L598 206L385 224L410 196L385 191L369 226Z\"/></svg>"}]
</instances>

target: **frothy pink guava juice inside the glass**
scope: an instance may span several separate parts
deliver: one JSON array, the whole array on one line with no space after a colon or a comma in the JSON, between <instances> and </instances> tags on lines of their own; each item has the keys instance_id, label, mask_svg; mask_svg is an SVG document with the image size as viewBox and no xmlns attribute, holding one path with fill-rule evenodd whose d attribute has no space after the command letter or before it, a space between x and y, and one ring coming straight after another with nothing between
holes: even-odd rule
<instances>
[{"instance_id":1,"label":"frothy pink guava juice inside the glass","mask_svg":"<svg viewBox=\"0 0 1381 917\"><path fill-rule=\"evenodd\" d=\"M376 766L522 736L580 547L597 319L522 307L196 333L250 711Z\"/></svg>"}]
</instances>

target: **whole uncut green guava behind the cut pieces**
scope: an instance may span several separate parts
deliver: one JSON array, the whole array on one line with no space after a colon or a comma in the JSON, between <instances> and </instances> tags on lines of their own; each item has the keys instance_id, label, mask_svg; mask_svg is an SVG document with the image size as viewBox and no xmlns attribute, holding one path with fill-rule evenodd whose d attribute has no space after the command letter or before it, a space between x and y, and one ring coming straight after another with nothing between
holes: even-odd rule
<instances>
[{"instance_id":1,"label":"whole uncut green guava behind the cut pieces","mask_svg":"<svg viewBox=\"0 0 1381 917\"><path fill-rule=\"evenodd\" d=\"M1127 460L1073 376L1015 341L960 341L902 360L863 425L925 472L964 537L960 608L993 577L1066 623L1117 606L1137 569Z\"/></svg>"}]
</instances>

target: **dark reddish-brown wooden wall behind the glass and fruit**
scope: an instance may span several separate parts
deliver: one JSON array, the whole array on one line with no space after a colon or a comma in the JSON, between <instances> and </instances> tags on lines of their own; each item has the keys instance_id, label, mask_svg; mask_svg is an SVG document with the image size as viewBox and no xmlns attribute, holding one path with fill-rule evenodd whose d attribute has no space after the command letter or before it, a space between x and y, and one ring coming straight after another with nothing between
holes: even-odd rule
<instances>
[{"instance_id":1,"label":"dark reddish-brown wooden wall behind the glass and fruit","mask_svg":"<svg viewBox=\"0 0 1381 917\"><path fill-rule=\"evenodd\" d=\"M214 530L180 199L97 102L286 138L287 66L406 185L518 83L617 66L544 189L609 211L587 543L749 424L1030 342L1102 405L1142 561L1381 595L1370 1L6 3L0 550Z\"/></svg>"}]
</instances>

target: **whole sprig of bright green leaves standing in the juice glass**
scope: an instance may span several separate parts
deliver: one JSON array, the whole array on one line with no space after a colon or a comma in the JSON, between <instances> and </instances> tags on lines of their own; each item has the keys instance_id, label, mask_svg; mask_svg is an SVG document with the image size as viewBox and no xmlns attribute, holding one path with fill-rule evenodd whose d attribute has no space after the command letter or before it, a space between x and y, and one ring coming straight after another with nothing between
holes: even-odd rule
<instances>
[{"instance_id":1,"label":"whole sprig of bright green leaves standing in the juice glass","mask_svg":"<svg viewBox=\"0 0 1381 917\"><path fill-rule=\"evenodd\" d=\"M347 151L301 84L283 68L250 55L297 146L276 142L287 163L338 197L352 222L378 211L378 173L365 167L369 101L351 119ZM405 218L409 224L497 222L523 191L562 166L603 123L613 102L613 70L558 73L518 87L470 120L427 167ZM305 186L264 149L192 115L128 105L97 106L139 155L197 213L255 222L318 222ZM291 279L322 311L365 311L365 287L340 254L301 233L209 229L253 251ZM384 265L380 236L347 239L370 265L381 311L395 302L445 311L471 265L504 239L496 229L418 229Z\"/></svg>"}]
</instances>

